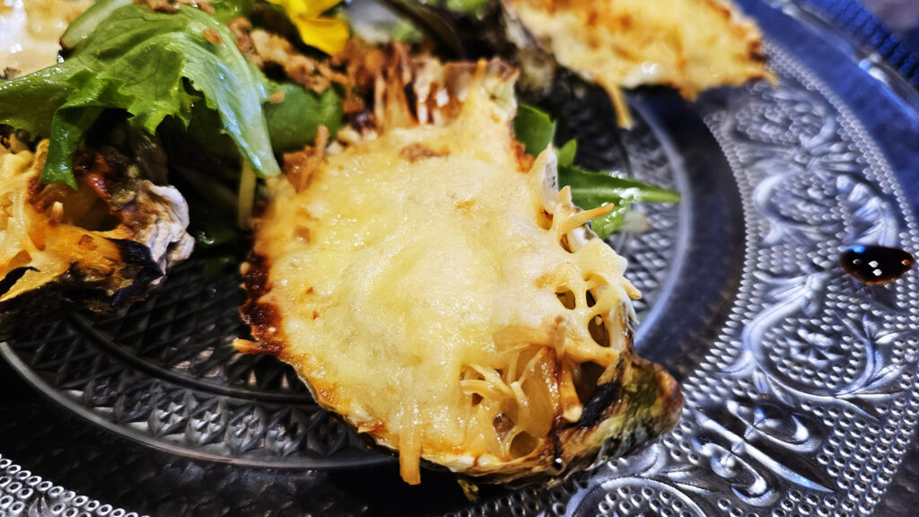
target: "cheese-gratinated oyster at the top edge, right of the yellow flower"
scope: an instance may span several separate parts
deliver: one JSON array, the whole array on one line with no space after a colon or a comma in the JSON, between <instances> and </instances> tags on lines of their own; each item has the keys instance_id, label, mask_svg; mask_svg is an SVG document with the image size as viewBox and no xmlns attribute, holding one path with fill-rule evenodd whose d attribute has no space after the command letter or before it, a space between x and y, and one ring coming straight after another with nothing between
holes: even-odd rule
<instances>
[{"instance_id":1,"label":"cheese-gratinated oyster at the top edge, right of the yellow flower","mask_svg":"<svg viewBox=\"0 0 919 517\"><path fill-rule=\"evenodd\" d=\"M773 77L760 30L730 0L502 0L502 6L524 70L546 83L554 58L606 89L622 126L631 117L621 88L672 86L693 100L709 88Z\"/></svg>"}]
</instances>

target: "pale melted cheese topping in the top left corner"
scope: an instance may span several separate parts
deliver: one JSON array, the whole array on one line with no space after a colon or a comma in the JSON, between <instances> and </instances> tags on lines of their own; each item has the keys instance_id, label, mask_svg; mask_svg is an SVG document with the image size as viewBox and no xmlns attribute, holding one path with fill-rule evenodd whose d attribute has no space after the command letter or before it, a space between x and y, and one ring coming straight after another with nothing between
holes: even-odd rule
<instances>
[{"instance_id":1,"label":"pale melted cheese topping in the top left corner","mask_svg":"<svg viewBox=\"0 0 919 517\"><path fill-rule=\"evenodd\" d=\"M0 0L0 72L31 74L57 63L67 25L91 0Z\"/></svg>"}]
</instances>

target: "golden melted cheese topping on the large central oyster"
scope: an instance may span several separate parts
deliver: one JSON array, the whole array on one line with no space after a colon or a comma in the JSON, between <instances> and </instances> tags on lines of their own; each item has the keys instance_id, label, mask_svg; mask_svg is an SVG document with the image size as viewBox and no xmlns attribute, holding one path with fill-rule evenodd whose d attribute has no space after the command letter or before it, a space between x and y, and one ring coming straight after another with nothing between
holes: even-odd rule
<instances>
[{"instance_id":1,"label":"golden melted cheese topping on the large central oyster","mask_svg":"<svg viewBox=\"0 0 919 517\"><path fill-rule=\"evenodd\" d=\"M611 374L630 347L625 260L574 238L590 214L546 187L554 166L547 150L521 169L507 118L471 95L445 126L327 157L301 192L269 184L267 333L318 402L400 451L406 481L419 457L469 472L525 456L580 417L573 365Z\"/></svg>"}]
</instances>

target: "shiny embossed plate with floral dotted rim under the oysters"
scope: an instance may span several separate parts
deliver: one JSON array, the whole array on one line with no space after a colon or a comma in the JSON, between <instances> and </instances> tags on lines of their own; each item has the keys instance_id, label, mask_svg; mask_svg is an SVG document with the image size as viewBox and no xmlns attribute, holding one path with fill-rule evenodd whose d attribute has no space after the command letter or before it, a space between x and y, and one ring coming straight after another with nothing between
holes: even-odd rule
<instances>
[{"instance_id":1,"label":"shiny embossed plate with floral dotted rim under the oysters","mask_svg":"<svg viewBox=\"0 0 919 517\"><path fill-rule=\"evenodd\" d=\"M919 101L794 4L742 5L775 86L641 90L628 132L595 89L550 101L584 166L683 193L610 241L644 293L636 346L686 395L661 440L557 488L408 487L288 367L233 351L239 279L193 259L122 314L0 344L0 515L908 514L919 275L866 286L839 254L919 249Z\"/></svg>"}]
</instances>

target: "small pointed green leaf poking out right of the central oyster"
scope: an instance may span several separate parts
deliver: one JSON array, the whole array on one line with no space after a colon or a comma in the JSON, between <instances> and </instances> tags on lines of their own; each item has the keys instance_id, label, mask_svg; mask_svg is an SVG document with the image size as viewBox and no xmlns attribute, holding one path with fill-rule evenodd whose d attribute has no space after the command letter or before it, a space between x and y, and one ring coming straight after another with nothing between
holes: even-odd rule
<instances>
[{"instance_id":1,"label":"small pointed green leaf poking out right of the central oyster","mask_svg":"<svg viewBox=\"0 0 919 517\"><path fill-rule=\"evenodd\" d=\"M555 122L548 113L520 104L514 120L516 138L529 155L538 155L555 138ZM591 221L591 227L600 238L607 238L626 223L627 213L634 202L677 203L680 194L675 190L655 187L641 181L623 178L612 171L590 171L574 165L577 143L569 140L556 149L559 163L559 185L569 187L574 204L590 210L607 204L612 211Z\"/></svg>"}]
</instances>

